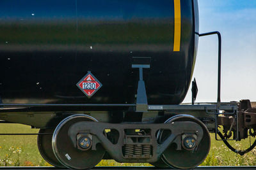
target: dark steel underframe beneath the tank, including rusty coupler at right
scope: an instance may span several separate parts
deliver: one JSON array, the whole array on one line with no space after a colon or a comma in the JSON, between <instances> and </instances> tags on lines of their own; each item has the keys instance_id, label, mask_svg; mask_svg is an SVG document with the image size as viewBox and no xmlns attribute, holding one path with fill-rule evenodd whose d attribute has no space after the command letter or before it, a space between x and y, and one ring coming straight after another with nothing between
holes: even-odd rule
<instances>
[{"instance_id":1,"label":"dark steel underframe beneath the tank, including rusty coupler at right","mask_svg":"<svg viewBox=\"0 0 256 170\"><path fill-rule=\"evenodd\" d=\"M235 131L234 139L240 140L248 137L242 134L244 129L256 127L255 113L246 111L252 107L241 108L244 105L242 103L247 104L250 101L148 105L148 111L142 113L141 122L154 123L160 117L188 114L204 122L210 132L217 133L218 125L223 125L225 130ZM4 120L2 123L13 122L47 129L56 127L60 120L69 115L85 114L97 118L100 122L121 123L127 121L124 120L127 112L131 112L134 116L140 114L135 111L136 104L0 104L0 119ZM118 120L115 120L116 115L120 115Z\"/></svg>"}]
</instances>

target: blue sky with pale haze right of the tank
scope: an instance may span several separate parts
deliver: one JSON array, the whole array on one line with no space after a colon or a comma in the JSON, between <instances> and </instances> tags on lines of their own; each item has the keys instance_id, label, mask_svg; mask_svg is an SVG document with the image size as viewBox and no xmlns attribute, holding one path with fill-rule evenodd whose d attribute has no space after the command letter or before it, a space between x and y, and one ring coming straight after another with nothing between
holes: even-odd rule
<instances>
[{"instance_id":1,"label":"blue sky with pale haze right of the tank","mask_svg":"<svg viewBox=\"0 0 256 170\"><path fill-rule=\"evenodd\" d=\"M200 33L222 36L221 101L256 101L256 1L198 0ZM197 102L216 101L218 39L201 37L193 77ZM184 103L191 102L191 88Z\"/></svg>"}]
</instances>

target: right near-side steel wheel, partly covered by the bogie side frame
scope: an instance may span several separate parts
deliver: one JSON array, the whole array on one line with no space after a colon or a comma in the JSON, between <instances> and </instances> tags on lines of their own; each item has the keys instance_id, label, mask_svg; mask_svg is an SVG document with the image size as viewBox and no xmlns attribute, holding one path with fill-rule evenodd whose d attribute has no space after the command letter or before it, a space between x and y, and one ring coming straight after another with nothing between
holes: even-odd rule
<instances>
[{"instance_id":1,"label":"right near-side steel wheel, partly covered by the bogie side frame","mask_svg":"<svg viewBox=\"0 0 256 170\"><path fill-rule=\"evenodd\" d=\"M189 121L199 124L204 130L204 136L200 141L197 150L176 150L175 143L172 143L164 152L161 157L163 162L165 162L170 167L180 168L180 169L192 169L200 165L205 158L207 157L210 146L211 138L207 127L195 117L191 115L177 115L175 117L169 118L164 123L180 122L180 121ZM165 138L164 132L160 131L157 134L159 141ZM162 161L161 160L161 161Z\"/></svg>"}]
</instances>

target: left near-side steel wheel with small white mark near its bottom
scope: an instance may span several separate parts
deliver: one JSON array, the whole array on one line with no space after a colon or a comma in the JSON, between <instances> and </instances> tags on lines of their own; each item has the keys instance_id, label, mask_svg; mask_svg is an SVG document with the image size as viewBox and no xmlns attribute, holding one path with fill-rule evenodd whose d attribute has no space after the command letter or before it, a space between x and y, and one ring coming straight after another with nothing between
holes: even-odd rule
<instances>
[{"instance_id":1,"label":"left near-side steel wheel with small white mark near its bottom","mask_svg":"<svg viewBox=\"0 0 256 170\"><path fill-rule=\"evenodd\" d=\"M81 121L97 122L95 118L87 115L72 115L60 122L52 137L52 149L56 158L70 169L89 169L96 166L106 152L101 145L97 145L97 150L86 151L78 150L72 145L72 141L68 138L68 129Z\"/></svg>"}]
</instances>

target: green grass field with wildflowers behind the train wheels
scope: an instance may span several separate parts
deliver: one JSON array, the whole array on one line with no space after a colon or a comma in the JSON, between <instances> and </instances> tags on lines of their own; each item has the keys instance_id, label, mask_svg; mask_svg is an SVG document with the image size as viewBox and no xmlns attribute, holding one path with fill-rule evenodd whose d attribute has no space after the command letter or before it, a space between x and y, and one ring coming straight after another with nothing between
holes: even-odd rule
<instances>
[{"instance_id":1,"label":"green grass field with wildflowers behind the train wheels","mask_svg":"<svg viewBox=\"0 0 256 170\"><path fill-rule=\"evenodd\" d=\"M0 124L0 133L36 133L38 129L19 124ZM216 141L214 135L209 156L203 166L256 166L256 150L240 156L231 152L222 141ZM0 166L50 166L38 152L37 136L0 136ZM252 143L253 143L252 139ZM245 149L250 141L235 143L236 148ZM150 166L150 164L119 164L113 160L102 160L99 166Z\"/></svg>"}]
</instances>

